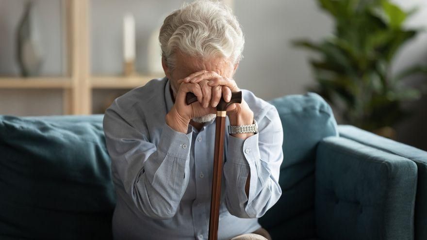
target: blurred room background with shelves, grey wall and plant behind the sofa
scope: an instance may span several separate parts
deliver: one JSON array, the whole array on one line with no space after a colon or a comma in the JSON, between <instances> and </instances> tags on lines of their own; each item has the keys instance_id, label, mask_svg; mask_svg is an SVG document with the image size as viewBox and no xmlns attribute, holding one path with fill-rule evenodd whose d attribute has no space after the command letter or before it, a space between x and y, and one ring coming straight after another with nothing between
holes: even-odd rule
<instances>
[{"instance_id":1,"label":"blurred room background with shelves, grey wall and plant behind the sofa","mask_svg":"<svg viewBox=\"0 0 427 240\"><path fill-rule=\"evenodd\" d=\"M183 0L0 0L0 114L103 113L161 78L158 30ZM339 124L427 150L426 0L227 0L235 75L264 100L314 91Z\"/></svg>"}]
</instances>

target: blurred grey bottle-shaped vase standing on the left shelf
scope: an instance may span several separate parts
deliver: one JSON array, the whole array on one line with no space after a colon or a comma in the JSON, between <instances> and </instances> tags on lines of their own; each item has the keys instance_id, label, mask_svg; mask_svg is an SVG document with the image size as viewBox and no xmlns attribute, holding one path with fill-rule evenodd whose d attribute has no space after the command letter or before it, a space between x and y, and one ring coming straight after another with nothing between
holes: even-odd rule
<instances>
[{"instance_id":1,"label":"blurred grey bottle-shaped vase standing on the left shelf","mask_svg":"<svg viewBox=\"0 0 427 240\"><path fill-rule=\"evenodd\" d=\"M21 75L36 76L43 63L43 53L40 45L40 32L33 17L33 1L25 5L24 14L19 21L16 34L16 55Z\"/></svg>"}]
</instances>

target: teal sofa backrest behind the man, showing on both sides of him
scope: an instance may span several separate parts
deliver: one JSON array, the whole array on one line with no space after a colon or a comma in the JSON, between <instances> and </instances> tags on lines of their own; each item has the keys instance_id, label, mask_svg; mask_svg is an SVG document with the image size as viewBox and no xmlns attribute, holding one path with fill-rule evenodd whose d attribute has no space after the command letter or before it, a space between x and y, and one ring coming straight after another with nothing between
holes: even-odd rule
<instances>
[{"instance_id":1,"label":"teal sofa backrest behind the man, showing on both sides of him","mask_svg":"<svg viewBox=\"0 0 427 240\"><path fill-rule=\"evenodd\" d=\"M282 121L282 196L260 219L273 239L315 237L314 161L336 122L318 95L270 101ZM102 115L0 115L0 239L111 239L115 192Z\"/></svg>"}]
</instances>

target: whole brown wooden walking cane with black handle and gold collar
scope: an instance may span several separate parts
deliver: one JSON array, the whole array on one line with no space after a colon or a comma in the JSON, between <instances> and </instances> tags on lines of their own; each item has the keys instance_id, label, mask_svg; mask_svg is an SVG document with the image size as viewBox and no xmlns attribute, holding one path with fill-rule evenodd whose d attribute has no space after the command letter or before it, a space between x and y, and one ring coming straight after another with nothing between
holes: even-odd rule
<instances>
[{"instance_id":1,"label":"whole brown wooden walking cane with black handle and gold collar","mask_svg":"<svg viewBox=\"0 0 427 240\"><path fill-rule=\"evenodd\" d=\"M196 95L187 93L187 105L197 101ZM242 102L242 92L231 93L230 102L226 102L223 97L216 106L216 126L215 126L215 150L213 153L213 179L212 179L212 196L211 196L211 215L209 217L209 238L208 240L218 239L218 221L219 206L221 201L221 177L222 162L224 156L224 133L225 117L227 107L232 103Z\"/></svg>"}]
</instances>

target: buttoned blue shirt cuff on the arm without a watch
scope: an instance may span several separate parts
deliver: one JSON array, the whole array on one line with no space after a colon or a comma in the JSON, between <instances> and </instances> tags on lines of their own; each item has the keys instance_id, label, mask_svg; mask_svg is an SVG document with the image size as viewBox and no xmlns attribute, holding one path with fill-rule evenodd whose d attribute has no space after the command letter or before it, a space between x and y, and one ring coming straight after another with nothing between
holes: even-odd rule
<instances>
[{"instance_id":1,"label":"buttoned blue shirt cuff on the arm without a watch","mask_svg":"<svg viewBox=\"0 0 427 240\"><path fill-rule=\"evenodd\" d=\"M157 148L169 156L187 159L190 153L193 128L188 125L187 133L175 131L166 123L163 126Z\"/></svg>"}]
</instances>

